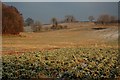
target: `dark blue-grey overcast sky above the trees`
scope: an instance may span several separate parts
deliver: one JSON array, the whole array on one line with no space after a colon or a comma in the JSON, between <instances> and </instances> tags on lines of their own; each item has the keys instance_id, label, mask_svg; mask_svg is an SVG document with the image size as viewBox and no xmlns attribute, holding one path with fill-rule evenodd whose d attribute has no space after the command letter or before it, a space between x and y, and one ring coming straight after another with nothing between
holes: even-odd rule
<instances>
[{"instance_id":1,"label":"dark blue-grey overcast sky above the trees","mask_svg":"<svg viewBox=\"0 0 120 80\"><path fill-rule=\"evenodd\" d=\"M59 20L73 15L77 20L88 20L88 16L100 14L118 15L117 2L11 2L26 19L31 17L42 23L49 23L52 17Z\"/></svg>"}]
</instances>

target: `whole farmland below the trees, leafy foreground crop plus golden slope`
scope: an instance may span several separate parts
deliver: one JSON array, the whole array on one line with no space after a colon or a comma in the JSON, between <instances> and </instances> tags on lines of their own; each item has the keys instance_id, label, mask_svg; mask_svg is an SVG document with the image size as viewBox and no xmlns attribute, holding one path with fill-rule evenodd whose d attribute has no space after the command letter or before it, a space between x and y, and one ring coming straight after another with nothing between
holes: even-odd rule
<instances>
[{"instance_id":1,"label":"whole farmland below the trees, leafy foreground crop plus golden slope","mask_svg":"<svg viewBox=\"0 0 120 80\"><path fill-rule=\"evenodd\" d=\"M68 80L119 76L116 25L62 25L68 29L3 35L3 76Z\"/></svg>"}]
</instances>

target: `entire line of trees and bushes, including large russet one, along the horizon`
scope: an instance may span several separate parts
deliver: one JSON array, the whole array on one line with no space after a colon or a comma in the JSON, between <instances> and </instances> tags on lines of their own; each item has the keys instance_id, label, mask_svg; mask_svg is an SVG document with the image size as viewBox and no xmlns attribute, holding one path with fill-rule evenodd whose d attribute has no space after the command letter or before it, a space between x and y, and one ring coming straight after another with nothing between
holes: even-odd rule
<instances>
[{"instance_id":1,"label":"entire line of trees and bushes, including large russet one, along the horizon","mask_svg":"<svg viewBox=\"0 0 120 80\"><path fill-rule=\"evenodd\" d=\"M89 16L88 20L95 24L109 24L117 23L118 19L115 16L108 14L102 14L95 19L94 16ZM51 19L52 26L50 29L66 29L67 25L61 25L59 23L74 23L79 22L73 15L66 15L63 21L58 21L57 18ZM3 34L19 34L24 30L24 26L32 26L33 32L39 32L42 29L42 24L39 21L34 21L32 18L23 20L22 14L14 6L8 6L2 4L2 33Z\"/></svg>"}]
</instances>

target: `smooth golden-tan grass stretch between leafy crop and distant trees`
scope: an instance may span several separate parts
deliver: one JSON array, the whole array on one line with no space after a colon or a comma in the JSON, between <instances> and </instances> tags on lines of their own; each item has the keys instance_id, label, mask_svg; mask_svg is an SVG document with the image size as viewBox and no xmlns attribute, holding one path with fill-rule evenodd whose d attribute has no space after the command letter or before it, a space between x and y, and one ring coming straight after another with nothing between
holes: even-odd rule
<instances>
[{"instance_id":1,"label":"smooth golden-tan grass stretch between leafy crop and distant trees","mask_svg":"<svg viewBox=\"0 0 120 80\"><path fill-rule=\"evenodd\" d=\"M80 24L79 24L80 25ZM29 52L43 49L65 48L65 47L117 47L117 40L106 40L104 35L112 33L107 31L93 30L96 26L74 26L70 24L69 29L48 31L40 33L21 33L20 36L3 36L3 53ZM114 27L115 28L115 27ZM113 31L114 31L113 28ZM112 43L112 45L111 45Z\"/></svg>"}]
</instances>

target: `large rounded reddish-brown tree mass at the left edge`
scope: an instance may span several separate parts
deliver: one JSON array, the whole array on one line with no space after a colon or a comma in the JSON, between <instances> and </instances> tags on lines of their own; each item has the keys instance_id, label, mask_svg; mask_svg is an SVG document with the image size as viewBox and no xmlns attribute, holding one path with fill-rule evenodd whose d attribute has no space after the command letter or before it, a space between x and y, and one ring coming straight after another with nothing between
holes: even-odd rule
<instances>
[{"instance_id":1,"label":"large rounded reddish-brown tree mass at the left edge","mask_svg":"<svg viewBox=\"0 0 120 80\"><path fill-rule=\"evenodd\" d=\"M19 34L23 31L22 14L13 6L2 4L2 33Z\"/></svg>"}]
</instances>

